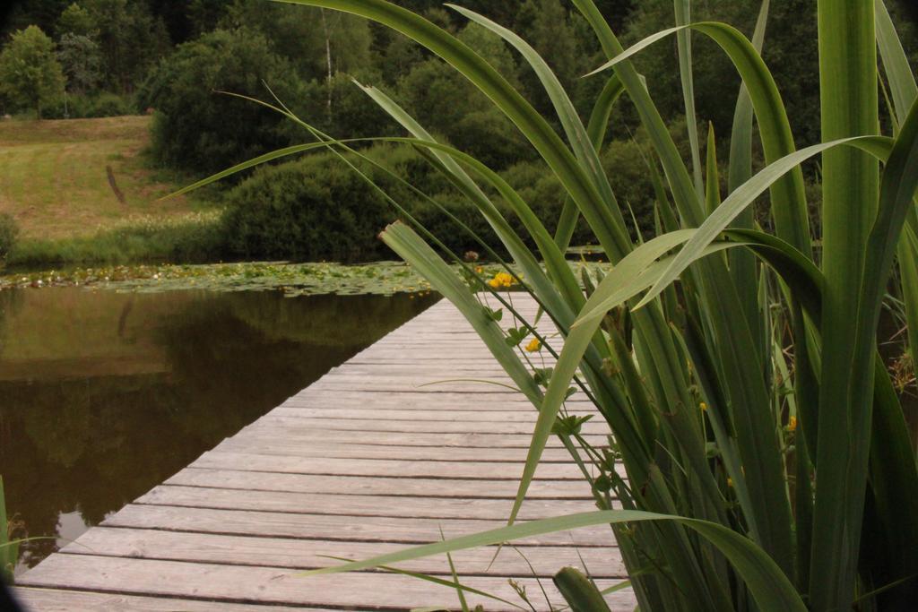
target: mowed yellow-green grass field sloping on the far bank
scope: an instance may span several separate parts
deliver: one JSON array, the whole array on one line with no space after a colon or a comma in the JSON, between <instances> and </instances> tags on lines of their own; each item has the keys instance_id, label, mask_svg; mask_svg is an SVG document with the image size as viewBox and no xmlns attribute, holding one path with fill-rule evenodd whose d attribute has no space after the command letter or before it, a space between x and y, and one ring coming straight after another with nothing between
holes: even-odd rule
<instances>
[{"instance_id":1,"label":"mowed yellow-green grass field sloping on the far bank","mask_svg":"<svg viewBox=\"0 0 918 612\"><path fill-rule=\"evenodd\" d=\"M0 212L17 219L22 238L62 239L199 210L185 197L158 201L177 185L154 180L140 159L149 127L150 117L0 121Z\"/></svg>"}]
</instances>

